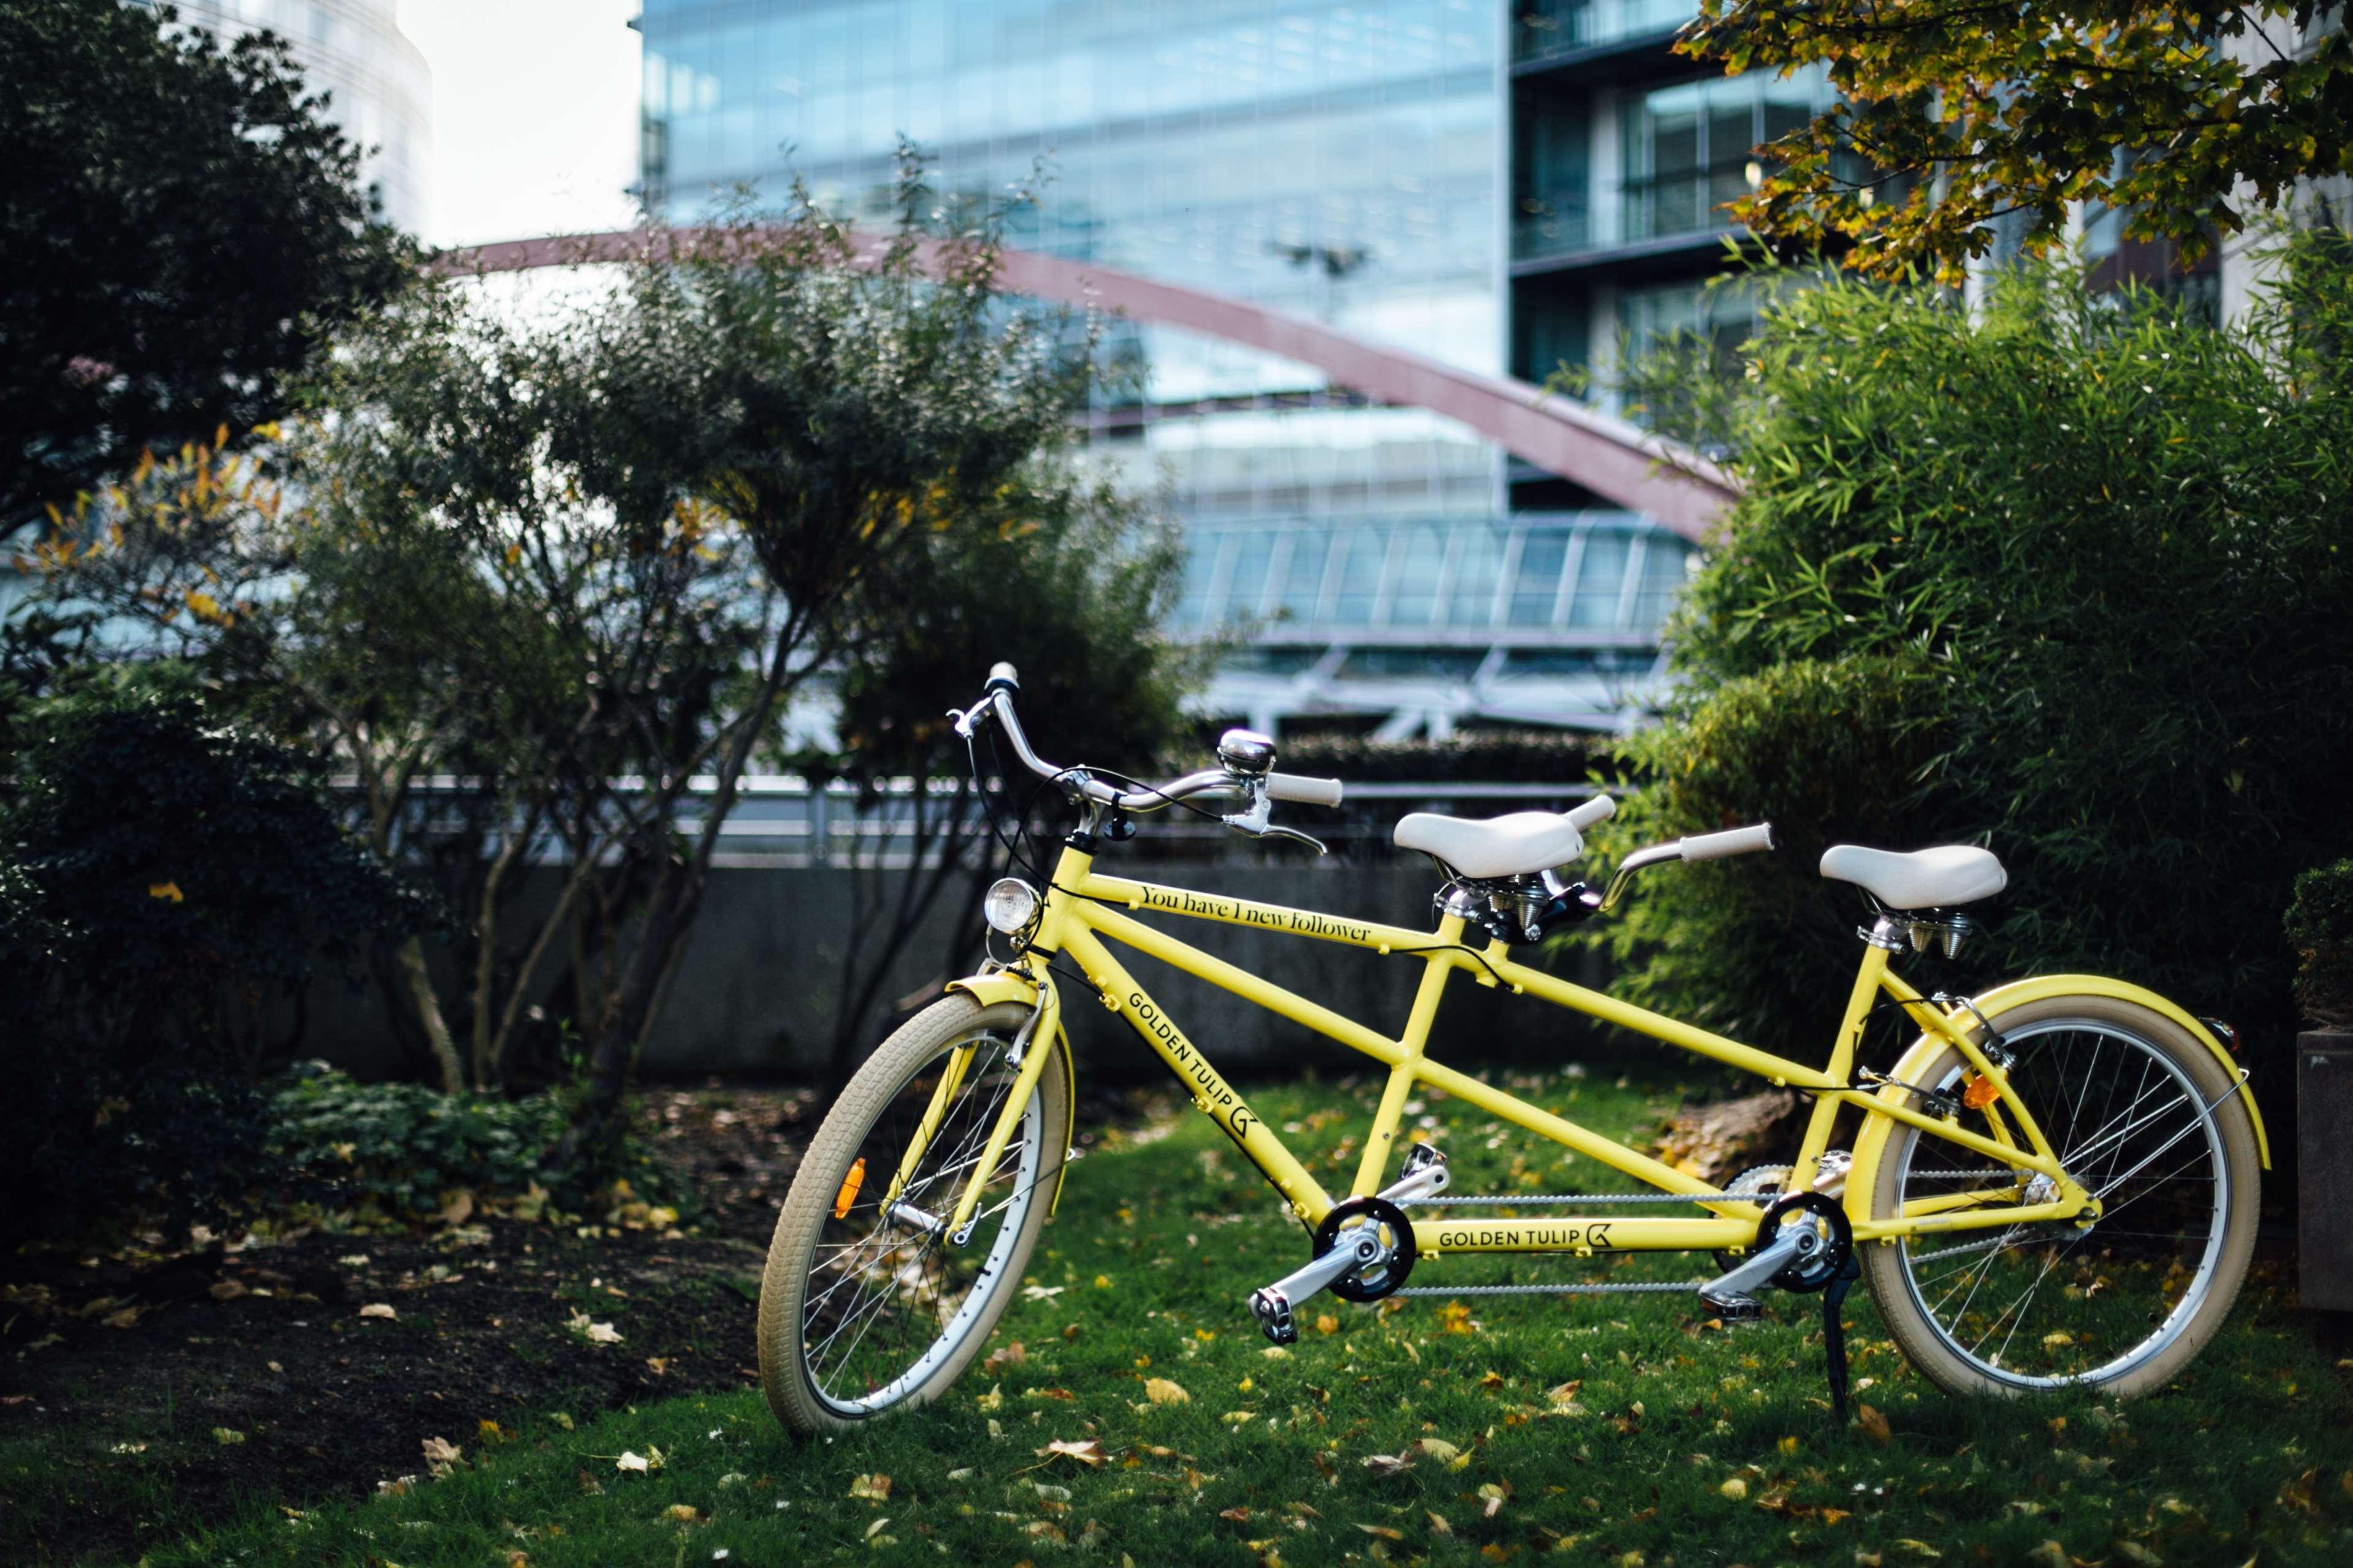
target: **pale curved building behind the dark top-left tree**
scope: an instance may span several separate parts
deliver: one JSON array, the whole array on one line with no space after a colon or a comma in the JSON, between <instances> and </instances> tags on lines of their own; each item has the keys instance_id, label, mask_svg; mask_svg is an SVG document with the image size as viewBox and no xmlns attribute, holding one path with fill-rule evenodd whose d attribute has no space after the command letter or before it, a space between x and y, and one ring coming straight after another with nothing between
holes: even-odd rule
<instances>
[{"instance_id":1,"label":"pale curved building behind the dark top-left tree","mask_svg":"<svg viewBox=\"0 0 2353 1568\"><path fill-rule=\"evenodd\" d=\"M433 73L400 33L395 0L172 0L179 19L228 40L287 40L327 118L365 153L360 183L384 216L421 233L433 202Z\"/></svg>"}]
</instances>

